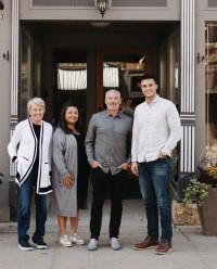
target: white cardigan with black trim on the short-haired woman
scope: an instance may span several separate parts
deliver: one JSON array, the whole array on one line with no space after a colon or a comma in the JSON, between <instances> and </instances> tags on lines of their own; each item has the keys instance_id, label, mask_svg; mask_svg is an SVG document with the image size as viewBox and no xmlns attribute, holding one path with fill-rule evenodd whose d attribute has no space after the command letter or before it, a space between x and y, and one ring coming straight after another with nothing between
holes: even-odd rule
<instances>
[{"instance_id":1,"label":"white cardigan with black trim on the short-haired woman","mask_svg":"<svg viewBox=\"0 0 217 269\"><path fill-rule=\"evenodd\" d=\"M47 194L51 189L52 126L42 120L39 139L39 165L36 193ZM8 145L9 155L17 162L15 181L21 187L29 176L36 159L38 141L33 124L25 119L16 125Z\"/></svg>"}]
</instances>

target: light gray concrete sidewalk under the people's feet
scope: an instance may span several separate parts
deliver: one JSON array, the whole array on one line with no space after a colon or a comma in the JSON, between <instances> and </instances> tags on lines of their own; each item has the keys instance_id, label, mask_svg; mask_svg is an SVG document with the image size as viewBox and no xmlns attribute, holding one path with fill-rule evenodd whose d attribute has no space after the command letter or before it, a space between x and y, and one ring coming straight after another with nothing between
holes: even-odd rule
<instances>
[{"instance_id":1,"label":"light gray concrete sidewalk under the people's feet","mask_svg":"<svg viewBox=\"0 0 217 269\"><path fill-rule=\"evenodd\" d=\"M120 240L123 249L110 248L107 223L108 203L103 213L100 247L88 252L86 246L61 247L56 243L58 228L53 213L47 222L46 241L49 249L22 252L17 247L16 223L0 223L1 269L216 269L217 238L205 236L200 227L174 229L174 252L157 256L153 249L133 251L131 246L144 238L145 218L141 201L125 201ZM33 223L34 225L34 223ZM31 225L31 226L33 226ZM80 214L79 233L89 239L89 212ZM30 229L33 232L33 229Z\"/></svg>"}]
</instances>

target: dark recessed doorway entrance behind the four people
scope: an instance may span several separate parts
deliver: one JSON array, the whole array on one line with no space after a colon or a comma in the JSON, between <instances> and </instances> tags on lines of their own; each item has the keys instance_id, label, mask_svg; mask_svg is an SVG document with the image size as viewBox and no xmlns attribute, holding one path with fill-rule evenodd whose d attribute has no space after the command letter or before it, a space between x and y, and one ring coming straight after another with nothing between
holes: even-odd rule
<instances>
[{"instance_id":1,"label":"dark recessed doorway entrance behind the four people","mask_svg":"<svg viewBox=\"0 0 217 269\"><path fill-rule=\"evenodd\" d=\"M56 126L65 101L78 103L85 128L104 108L104 93L120 90L123 108L132 114L143 101L139 78L153 73L161 95L179 107L179 23L177 22L22 22L20 120L26 102L40 95L46 119ZM175 174L178 174L178 161ZM126 197L140 196L128 178Z\"/></svg>"}]
</instances>

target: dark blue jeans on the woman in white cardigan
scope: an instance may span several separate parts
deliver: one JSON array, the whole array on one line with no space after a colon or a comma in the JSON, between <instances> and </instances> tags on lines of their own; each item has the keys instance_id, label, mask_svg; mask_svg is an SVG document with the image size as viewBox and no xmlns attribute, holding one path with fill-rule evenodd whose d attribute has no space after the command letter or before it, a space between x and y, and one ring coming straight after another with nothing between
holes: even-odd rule
<instances>
[{"instance_id":1,"label":"dark blue jeans on the woman in white cardigan","mask_svg":"<svg viewBox=\"0 0 217 269\"><path fill-rule=\"evenodd\" d=\"M30 223L31 193L36 182L37 174L31 171L24 183L17 187L17 233L18 242L28 241L27 231ZM47 198L48 195L36 194L36 231L34 240L40 241L44 235L44 225L47 220Z\"/></svg>"}]
</instances>

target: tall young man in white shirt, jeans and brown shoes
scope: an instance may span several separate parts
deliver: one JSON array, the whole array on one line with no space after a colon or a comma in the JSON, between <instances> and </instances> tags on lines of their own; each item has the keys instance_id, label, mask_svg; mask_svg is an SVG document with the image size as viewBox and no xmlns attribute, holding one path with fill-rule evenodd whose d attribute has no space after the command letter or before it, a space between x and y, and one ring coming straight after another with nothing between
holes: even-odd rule
<instances>
[{"instance_id":1,"label":"tall young man in white shirt, jeans and brown shoes","mask_svg":"<svg viewBox=\"0 0 217 269\"><path fill-rule=\"evenodd\" d=\"M156 254L171 251L171 151L181 138L181 127L175 104L157 94L152 75L141 78L145 101L135 111L132 128L131 170L139 184L148 218L148 236L135 244L135 249L156 246ZM162 235L158 241L158 212Z\"/></svg>"}]
</instances>

